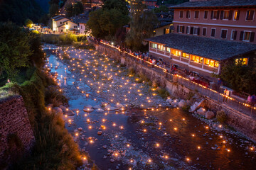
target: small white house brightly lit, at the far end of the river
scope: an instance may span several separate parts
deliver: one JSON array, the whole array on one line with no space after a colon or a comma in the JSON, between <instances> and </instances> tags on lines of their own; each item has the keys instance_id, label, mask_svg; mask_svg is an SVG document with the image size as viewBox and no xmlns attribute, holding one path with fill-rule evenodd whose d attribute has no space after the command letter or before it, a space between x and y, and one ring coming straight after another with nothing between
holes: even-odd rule
<instances>
[{"instance_id":1,"label":"small white house brightly lit, at the far end of the river","mask_svg":"<svg viewBox=\"0 0 256 170\"><path fill-rule=\"evenodd\" d=\"M78 33L78 24L65 16L55 16L53 20L53 33Z\"/></svg>"}]
</instances>

